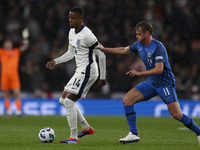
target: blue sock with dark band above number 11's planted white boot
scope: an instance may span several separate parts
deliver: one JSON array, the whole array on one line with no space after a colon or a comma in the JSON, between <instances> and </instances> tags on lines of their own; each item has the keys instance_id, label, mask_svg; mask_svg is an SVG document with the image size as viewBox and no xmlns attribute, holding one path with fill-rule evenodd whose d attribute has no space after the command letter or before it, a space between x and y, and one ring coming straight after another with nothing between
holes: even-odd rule
<instances>
[{"instance_id":1,"label":"blue sock with dark band above number 11's planted white boot","mask_svg":"<svg viewBox=\"0 0 200 150\"><path fill-rule=\"evenodd\" d=\"M126 119L130 127L130 131L138 135L137 133L137 125L136 125L136 113L133 105L124 106Z\"/></svg>"}]
</instances>

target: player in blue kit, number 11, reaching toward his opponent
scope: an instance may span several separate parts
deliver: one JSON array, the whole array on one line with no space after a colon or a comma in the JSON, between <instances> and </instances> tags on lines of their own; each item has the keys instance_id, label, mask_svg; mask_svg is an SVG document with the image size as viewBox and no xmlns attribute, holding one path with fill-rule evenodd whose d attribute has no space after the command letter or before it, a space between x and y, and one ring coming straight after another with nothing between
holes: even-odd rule
<instances>
[{"instance_id":1,"label":"player in blue kit, number 11, reaching toward his opponent","mask_svg":"<svg viewBox=\"0 0 200 150\"><path fill-rule=\"evenodd\" d=\"M140 141L137 126L136 112L134 104L149 100L150 98L159 95L163 102L167 104L168 110L174 119L182 122L187 128L192 130L197 135L200 143L200 128L188 116L182 113L176 90L175 78L171 70L168 60L168 54L165 46L152 38L153 27L148 21L141 21L136 25L137 41L127 47L106 48L98 46L100 50L113 54L129 54L131 52L139 53L143 63L146 66L146 71L131 70L127 75L133 76L148 76L146 81L132 88L123 98L124 110L127 122L130 126L130 133L119 139L121 143L131 143Z\"/></svg>"}]
</instances>

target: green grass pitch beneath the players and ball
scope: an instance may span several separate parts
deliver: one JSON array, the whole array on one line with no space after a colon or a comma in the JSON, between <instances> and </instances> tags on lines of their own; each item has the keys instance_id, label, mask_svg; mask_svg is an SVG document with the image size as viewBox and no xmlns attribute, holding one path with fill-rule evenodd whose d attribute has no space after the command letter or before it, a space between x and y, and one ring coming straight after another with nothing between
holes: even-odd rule
<instances>
[{"instance_id":1,"label":"green grass pitch beneath the players and ball","mask_svg":"<svg viewBox=\"0 0 200 150\"><path fill-rule=\"evenodd\" d=\"M64 116L0 116L0 150L199 150L196 135L182 123L168 117L138 117L140 142L121 144L129 127L125 117L86 116L95 129L94 135L85 136L78 144L60 144L69 137ZM200 119L194 119L200 125ZM41 143L38 132L51 127L56 133L53 143ZM79 131L80 131L79 126Z\"/></svg>"}]
</instances>

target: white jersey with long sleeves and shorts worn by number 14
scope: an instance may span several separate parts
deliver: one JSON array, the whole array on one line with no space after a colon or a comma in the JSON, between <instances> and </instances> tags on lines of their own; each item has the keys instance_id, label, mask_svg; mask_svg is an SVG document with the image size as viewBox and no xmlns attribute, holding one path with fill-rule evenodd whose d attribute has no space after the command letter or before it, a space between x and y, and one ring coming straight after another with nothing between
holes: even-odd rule
<instances>
[{"instance_id":1,"label":"white jersey with long sleeves and shorts worn by number 14","mask_svg":"<svg viewBox=\"0 0 200 150\"><path fill-rule=\"evenodd\" d=\"M69 31L68 51L62 56L54 59L55 64L67 62L75 57L76 72L65 86L64 90L85 97L97 80L99 70L96 62L98 56L100 79L105 80L106 76L106 57L105 54L95 49L98 45L97 38L92 31L84 24L79 32L75 29Z\"/></svg>"}]
</instances>

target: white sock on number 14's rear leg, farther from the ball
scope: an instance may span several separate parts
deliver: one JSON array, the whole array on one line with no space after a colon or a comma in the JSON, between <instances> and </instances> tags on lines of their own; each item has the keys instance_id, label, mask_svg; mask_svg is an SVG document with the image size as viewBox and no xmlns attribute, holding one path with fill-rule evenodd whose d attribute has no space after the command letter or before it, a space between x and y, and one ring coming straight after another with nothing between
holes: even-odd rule
<instances>
[{"instance_id":1,"label":"white sock on number 14's rear leg, farther from the ball","mask_svg":"<svg viewBox=\"0 0 200 150\"><path fill-rule=\"evenodd\" d=\"M76 105L74 105L74 106L76 108L78 121L81 124L82 130L88 130L90 128L90 125L88 124L88 122L86 121L85 117L83 116L83 114L78 109L78 107Z\"/></svg>"}]
</instances>

